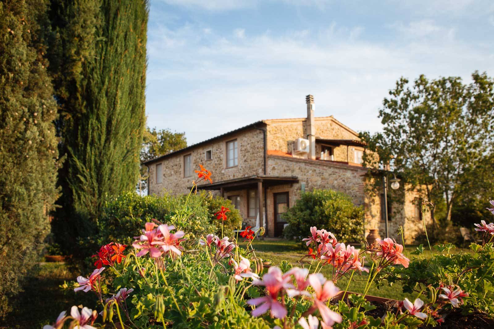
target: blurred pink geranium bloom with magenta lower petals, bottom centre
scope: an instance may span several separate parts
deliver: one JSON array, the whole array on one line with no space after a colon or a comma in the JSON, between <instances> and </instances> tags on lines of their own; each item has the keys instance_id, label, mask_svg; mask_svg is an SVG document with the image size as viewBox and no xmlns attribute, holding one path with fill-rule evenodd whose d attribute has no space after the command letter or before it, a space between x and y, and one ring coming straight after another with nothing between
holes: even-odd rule
<instances>
[{"instance_id":1,"label":"blurred pink geranium bloom with magenta lower petals, bottom centre","mask_svg":"<svg viewBox=\"0 0 494 329\"><path fill-rule=\"evenodd\" d=\"M289 277L283 278L282 272L278 267L270 267L268 273L264 274L262 281L254 279L252 284L264 286L268 294L264 297L258 297L247 300L247 304L257 306L252 310L252 316L259 316L271 310L271 316L283 319L287 316L287 309L278 301L278 296L284 288L290 287L288 284Z\"/></svg>"}]
</instances>

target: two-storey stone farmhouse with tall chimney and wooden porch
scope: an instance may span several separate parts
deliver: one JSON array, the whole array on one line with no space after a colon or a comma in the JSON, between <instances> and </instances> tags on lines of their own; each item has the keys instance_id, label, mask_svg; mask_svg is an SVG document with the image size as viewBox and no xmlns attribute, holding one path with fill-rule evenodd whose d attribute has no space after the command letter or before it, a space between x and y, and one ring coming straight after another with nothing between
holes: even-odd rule
<instances>
[{"instance_id":1,"label":"two-storey stone farmhouse with tall chimney and wooden porch","mask_svg":"<svg viewBox=\"0 0 494 329\"><path fill-rule=\"evenodd\" d=\"M257 121L144 162L148 193L188 193L194 170L202 164L212 172L213 183L199 189L230 199L244 225L262 225L267 236L277 237L287 224L282 214L300 193L330 188L363 205L366 234L378 229L384 238L383 194L365 188L366 144L333 116L315 117L312 95L306 104L307 117ZM402 225L406 242L412 243L422 227L420 195L406 191L403 199L403 204L388 204L388 232L398 239L396 229Z\"/></svg>"}]
</instances>

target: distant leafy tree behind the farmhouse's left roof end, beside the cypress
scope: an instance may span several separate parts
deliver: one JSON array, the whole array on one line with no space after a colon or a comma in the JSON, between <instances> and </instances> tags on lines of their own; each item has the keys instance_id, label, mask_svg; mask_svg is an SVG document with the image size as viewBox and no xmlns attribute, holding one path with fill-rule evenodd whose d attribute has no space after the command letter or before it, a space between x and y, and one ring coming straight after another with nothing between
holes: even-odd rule
<instances>
[{"instance_id":1,"label":"distant leafy tree behind the farmhouse's left roof end, beside the cypress","mask_svg":"<svg viewBox=\"0 0 494 329\"><path fill-rule=\"evenodd\" d=\"M165 155L181 148L187 147L185 133L174 133L169 129L149 127L144 132L144 139L141 148L141 162ZM147 188L148 168L141 166L141 177L139 180L139 194Z\"/></svg>"}]
</instances>

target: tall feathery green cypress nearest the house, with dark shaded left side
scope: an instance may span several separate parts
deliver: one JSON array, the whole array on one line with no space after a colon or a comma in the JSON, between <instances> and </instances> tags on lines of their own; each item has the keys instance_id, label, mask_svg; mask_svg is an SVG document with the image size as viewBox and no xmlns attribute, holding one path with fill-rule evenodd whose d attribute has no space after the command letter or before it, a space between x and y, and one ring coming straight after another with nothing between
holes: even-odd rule
<instances>
[{"instance_id":1,"label":"tall feathery green cypress nearest the house, with dark shaded left side","mask_svg":"<svg viewBox=\"0 0 494 329\"><path fill-rule=\"evenodd\" d=\"M93 233L105 200L138 182L147 19L147 0L52 3L57 38L50 62L56 63L60 151L67 154L56 227L64 232Z\"/></svg>"}]
</instances>

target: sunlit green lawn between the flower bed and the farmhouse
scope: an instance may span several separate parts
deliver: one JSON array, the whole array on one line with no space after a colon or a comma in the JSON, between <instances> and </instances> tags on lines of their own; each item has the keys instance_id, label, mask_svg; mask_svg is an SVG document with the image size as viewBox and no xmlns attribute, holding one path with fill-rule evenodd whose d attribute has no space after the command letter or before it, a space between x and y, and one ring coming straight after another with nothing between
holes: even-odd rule
<instances>
[{"instance_id":1,"label":"sunlit green lawn between the flower bed and the farmhouse","mask_svg":"<svg viewBox=\"0 0 494 329\"><path fill-rule=\"evenodd\" d=\"M244 246L244 245L243 245ZM290 262L293 266L301 266L301 264L298 262L300 258L302 258L305 254L307 254L307 251L301 247L300 242L296 241L288 241L288 240L254 240L252 243L252 246L254 247L256 256L259 256L263 259L269 259L273 262L273 265L280 265L282 260L287 260ZM407 253L409 254L409 258L412 259L412 256L410 253L416 249L417 246L406 246L405 249ZM360 247L359 247L360 248ZM431 252L429 251L428 247L427 250L424 249L423 256L426 258L431 257ZM462 248L455 248L451 252L452 253L459 253L459 252L465 252L466 249ZM433 249L433 252L435 250ZM316 263L314 263L316 265ZM307 264L304 265L305 267L308 266ZM332 270L332 267L330 265L327 265L323 267L321 273L323 273L327 278L331 276L330 271ZM349 286L349 291L352 292L360 292L363 293L367 280L368 280L368 274L363 272L363 275L357 275L357 272L353 276L353 281L350 283ZM341 290L345 290L346 286L348 284L348 280L346 278L342 278L337 282L337 287L340 288ZM380 289L375 288L375 285L371 286L371 289L369 290L368 294L375 295L375 296L380 296L380 297L386 297L386 298L392 298L392 299L404 299L405 297L410 298L415 298L415 296L408 294L408 293L403 293L402 291L402 286L400 284L394 284L391 287L388 285L385 285L384 287L381 287Z\"/></svg>"}]
</instances>

